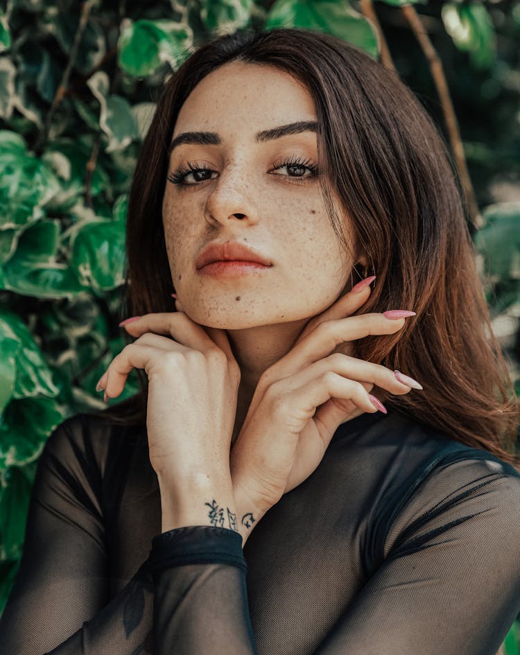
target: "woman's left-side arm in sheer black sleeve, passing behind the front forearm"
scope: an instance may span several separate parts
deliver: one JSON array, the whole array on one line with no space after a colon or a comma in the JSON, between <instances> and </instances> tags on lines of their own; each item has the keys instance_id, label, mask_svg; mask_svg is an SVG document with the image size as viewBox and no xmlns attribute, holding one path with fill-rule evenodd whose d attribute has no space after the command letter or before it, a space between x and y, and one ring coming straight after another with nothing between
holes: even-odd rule
<instances>
[{"instance_id":1,"label":"woman's left-side arm in sheer black sleeve, passing behind the front forearm","mask_svg":"<svg viewBox=\"0 0 520 655\"><path fill-rule=\"evenodd\" d=\"M107 604L98 475L80 420L65 421L38 462L21 563L0 620L2 655L130 655L151 631L146 566Z\"/></svg>"}]
</instances>

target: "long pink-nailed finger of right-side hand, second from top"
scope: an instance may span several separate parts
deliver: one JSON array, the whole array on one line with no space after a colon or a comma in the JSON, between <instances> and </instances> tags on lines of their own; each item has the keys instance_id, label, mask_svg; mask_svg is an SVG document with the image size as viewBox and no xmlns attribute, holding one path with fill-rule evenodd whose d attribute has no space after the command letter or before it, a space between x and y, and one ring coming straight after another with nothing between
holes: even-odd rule
<instances>
[{"instance_id":1,"label":"long pink-nailed finger of right-side hand, second from top","mask_svg":"<svg viewBox=\"0 0 520 655\"><path fill-rule=\"evenodd\" d=\"M372 313L320 323L268 369L267 382L293 375L323 359L343 342L362 339L368 335L393 334L404 326L405 321L404 318L392 320L381 313Z\"/></svg>"}]
</instances>

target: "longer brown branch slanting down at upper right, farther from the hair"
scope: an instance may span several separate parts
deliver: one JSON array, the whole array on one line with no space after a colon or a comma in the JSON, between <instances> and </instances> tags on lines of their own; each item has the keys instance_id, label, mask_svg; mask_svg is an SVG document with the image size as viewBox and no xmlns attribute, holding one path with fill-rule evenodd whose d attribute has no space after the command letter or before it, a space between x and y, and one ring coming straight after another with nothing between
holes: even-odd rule
<instances>
[{"instance_id":1,"label":"longer brown branch slanting down at upper right, farther from the hair","mask_svg":"<svg viewBox=\"0 0 520 655\"><path fill-rule=\"evenodd\" d=\"M457 117L455 110L453 109L453 103L451 102L451 96L449 94L449 89L444 76L444 70L442 69L442 62L440 60L437 51L433 47L422 21L419 18L419 15L415 11L415 8L412 5L405 5L401 7L401 12L403 12L408 24L412 28L419 45L426 56L430 64L430 71L435 82L435 87L437 87L437 94L439 94L440 103L442 107L442 112L444 114L444 122L449 134L449 141L451 143L451 149L453 150L453 155L455 156L455 161L460 175L460 181L462 183L462 189L465 194L465 201L467 203L467 210L469 212L469 218L473 223L474 227L480 228L483 225L483 218L478 211L478 204L476 202L475 193L473 186L471 185L471 180L469 178L469 173L466 166L466 158L464 154L464 147L462 146L462 139L460 139L460 130L458 127Z\"/></svg>"}]
</instances>

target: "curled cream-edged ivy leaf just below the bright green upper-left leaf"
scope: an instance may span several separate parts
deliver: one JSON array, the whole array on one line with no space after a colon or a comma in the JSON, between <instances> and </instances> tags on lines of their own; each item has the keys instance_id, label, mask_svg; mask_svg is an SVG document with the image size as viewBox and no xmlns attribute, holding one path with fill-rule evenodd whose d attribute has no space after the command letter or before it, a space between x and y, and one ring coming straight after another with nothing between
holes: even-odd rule
<instances>
[{"instance_id":1,"label":"curled cream-edged ivy leaf just below the bright green upper-left leaf","mask_svg":"<svg viewBox=\"0 0 520 655\"><path fill-rule=\"evenodd\" d=\"M106 151L123 150L132 139L139 138L132 107L125 98L110 95L110 82L103 71L94 73L87 85L101 105L99 126L108 137Z\"/></svg>"}]
</instances>

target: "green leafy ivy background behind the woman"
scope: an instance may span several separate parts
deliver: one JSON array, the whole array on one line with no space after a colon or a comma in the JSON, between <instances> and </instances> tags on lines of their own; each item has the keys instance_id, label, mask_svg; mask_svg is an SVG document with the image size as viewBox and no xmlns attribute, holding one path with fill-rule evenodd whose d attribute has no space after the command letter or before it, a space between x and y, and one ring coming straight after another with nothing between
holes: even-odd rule
<instances>
[{"instance_id":1,"label":"green leafy ivy background behind the woman","mask_svg":"<svg viewBox=\"0 0 520 655\"><path fill-rule=\"evenodd\" d=\"M125 346L127 194L162 80L244 26L352 42L462 143L493 329L520 390L520 1L0 2L0 611L46 438L104 405L94 387ZM137 390L132 372L117 401ZM520 654L519 622L501 652Z\"/></svg>"}]
</instances>

